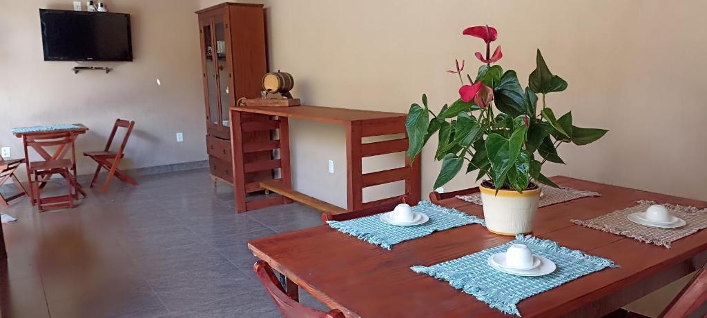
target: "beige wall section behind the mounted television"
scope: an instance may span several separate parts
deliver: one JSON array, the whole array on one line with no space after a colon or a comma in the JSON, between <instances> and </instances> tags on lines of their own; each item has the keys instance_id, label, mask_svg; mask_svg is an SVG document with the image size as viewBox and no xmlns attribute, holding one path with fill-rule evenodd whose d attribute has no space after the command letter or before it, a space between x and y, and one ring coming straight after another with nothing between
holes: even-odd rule
<instances>
[{"instance_id":1,"label":"beige wall section behind the mounted television","mask_svg":"<svg viewBox=\"0 0 707 318\"><path fill-rule=\"evenodd\" d=\"M85 1L82 1L84 9ZM124 167L150 167L206 159L204 99L199 59L199 2L107 1L130 13L134 61L86 63L115 70L71 72L74 62L44 61L39 8L71 10L71 1L0 2L0 146L23 157L14 126L83 123L77 151L100 150L117 117L134 119ZM162 85L158 86L159 78ZM175 133L184 133L177 143ZM81 158L79 173L95 164Z\"/></svg>"}]
</instances>

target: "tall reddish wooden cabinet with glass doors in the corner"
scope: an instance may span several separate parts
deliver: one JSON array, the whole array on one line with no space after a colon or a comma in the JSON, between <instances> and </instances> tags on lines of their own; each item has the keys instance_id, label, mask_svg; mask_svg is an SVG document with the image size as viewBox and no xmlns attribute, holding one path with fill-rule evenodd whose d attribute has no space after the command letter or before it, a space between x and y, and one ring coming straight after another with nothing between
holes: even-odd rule
<instances>
[{"instance_id":1,"label":"tall reddish wooden cabinet with glass doors in the corner","mask_svg":"<svg viewBox=\"0 0 707 318\"><path fill-rule=\"evenodd\" d=\"M211 176L233 184L228 107L240 98L260 95L267 72L265 21L262 4L224 3L197 11L206 114L206 153ZM269 132L244 136L269 140ZM270 158L252 153L245 160Z\"/></svg>"}]
</instances>

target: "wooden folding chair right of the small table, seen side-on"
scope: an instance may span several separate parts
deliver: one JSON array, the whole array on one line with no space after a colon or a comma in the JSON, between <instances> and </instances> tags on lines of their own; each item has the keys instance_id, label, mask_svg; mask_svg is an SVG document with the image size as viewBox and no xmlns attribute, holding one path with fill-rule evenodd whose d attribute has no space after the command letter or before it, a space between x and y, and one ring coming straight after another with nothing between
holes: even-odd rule
<instances>
[{"instance_id":1,"label":"wooden folding chair right of the small table, seen side-on","mask_svg":"<svg viewBox=\"0 0 707 318\"><path fill-rule=\"evenodd\" d=\"M115 119L115 125L113 126L113 130L110 132L108 142L105 144L105 148L103 149L103 151L87 151L83 153L83 155L88 156L89 158L95 160L96 163L98 163L98 167L95 168L95 173L93 174L93 179L90 180L90 187L93 188L93 184L95 184L95 180L98 179L98 173L100 173L101 168L105 168L105 170L108 170L108 175L107 177L105 177L103 187L101 187L101 191L103 192L106 192L108 190L110 180L113 176L117 177L122 182L127 182L134 186L137 185L137 182L133 178L129 177L124 172L118 169L118 164L124 156L123 151L125 150L125 145L128 142L133 126L135 126L134 121L128 122L124 119ZM120 144L120 148L118 148L117 152L113 152L110 151L110 145L113 143L113 138L115 137L115 134L118 131L118 127L125 128L127 129L127 131L125 131L125 136L123 137L123 142Z\"/></svg>"}]
</instances>

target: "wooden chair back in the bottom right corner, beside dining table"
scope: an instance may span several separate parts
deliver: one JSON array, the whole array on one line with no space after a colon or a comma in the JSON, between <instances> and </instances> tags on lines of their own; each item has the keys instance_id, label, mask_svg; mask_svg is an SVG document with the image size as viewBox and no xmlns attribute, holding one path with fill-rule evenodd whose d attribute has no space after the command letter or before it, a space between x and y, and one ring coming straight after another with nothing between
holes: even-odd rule
<instances>
[{"instance_id":1,"label":"wooden chair back in the bottom right corner, beside dining table","mask_svg":"<svg viewBox=\"0 0 707 318\"><path fill-rule=\"evenodd\" d=\"M697 271L659 317L707 317L707 264Z\"/></svg>"}]
</instances>

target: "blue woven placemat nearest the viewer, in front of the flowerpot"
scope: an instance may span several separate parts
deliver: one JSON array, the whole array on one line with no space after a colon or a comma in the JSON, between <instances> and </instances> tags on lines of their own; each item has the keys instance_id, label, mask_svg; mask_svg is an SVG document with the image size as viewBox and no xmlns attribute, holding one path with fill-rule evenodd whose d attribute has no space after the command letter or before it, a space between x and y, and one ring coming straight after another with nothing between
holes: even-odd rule
<instances>
[{"instance_id":1,"label":"blue woven placemat nearest the viewer, in front of the flowerpot","mask_svg":"<svg viewBox=\"0 0 707 318\"><path fill-rule=\"evenodd\" d=\"M515 276L501 273L489 266L487 260L493 254L505 252L510 245L525 244L534 254L554 261L557 269L545 276ZM601 271L607 267L618 267L613 261L585 254L576 249L568 249L551 240L542 240L530 235L518 235L515 240L504 245L484 249L458 259L445 261L433 266L412 266L417 273L426 273L441 281L448 281L452 287L472 294L506 314L520 316L520 300L556 288L576 278Z\"/></svg>"}]
</instances>

